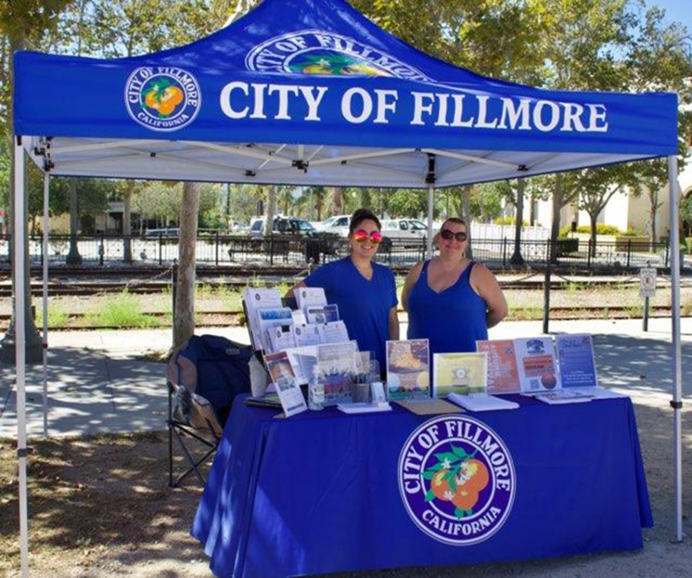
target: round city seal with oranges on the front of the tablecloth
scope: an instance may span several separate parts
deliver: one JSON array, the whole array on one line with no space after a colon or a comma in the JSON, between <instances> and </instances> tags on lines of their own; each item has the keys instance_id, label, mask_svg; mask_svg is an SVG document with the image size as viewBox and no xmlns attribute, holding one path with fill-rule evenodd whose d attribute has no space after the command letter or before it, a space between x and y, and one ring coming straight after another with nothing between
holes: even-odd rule
<instances>
[{"instance_id":1,"label":"round city seal with oranges on the front of the tablecloth","mask_svg":"<svg viewBox=\"0 0 692 578\"><path fill-rule=\"evenodd\" d=\"M517 476L497 433L464 416L420 425L399 458L399 489L407 512L427 535L469 546L497 532L512 511Z\"/></svg>"}]
</instances>

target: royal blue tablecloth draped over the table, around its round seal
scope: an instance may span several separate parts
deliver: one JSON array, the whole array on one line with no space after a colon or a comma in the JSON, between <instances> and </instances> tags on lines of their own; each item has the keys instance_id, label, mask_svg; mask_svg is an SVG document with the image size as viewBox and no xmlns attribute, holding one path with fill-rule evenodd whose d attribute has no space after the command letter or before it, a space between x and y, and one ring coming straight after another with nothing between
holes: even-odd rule
<instances>
[{"instance_id":1,"label":"royal blue tablecloth draped over the table, around its round seal","mask_svg":"<svg viewBox=\"0 0 692 578\"><path fill-rule=\"evenodd\" d=\"M470 422L468 433L473 432L469 427L486 428L483 435L494 433L513 465L512 504L494 533L478 543L436 539L422 530L422 522L404 503L402 450L424 431L430 416L394 405L387 413L345 415L331 408L280 419L274 410L245 406L242 397L233 404L192 534L203 543L219 577L459 565L640 548L641 527L650 527L653 520L629 398L563 406L513 399L521 403L515 411L447 416ZM425 434L415 439L425 442ZM454 458L430 450L430 459L439 460L438 469L448 467L446 456ZM496 457L502 461L499 453ZM492 483L482 480L487 483L483 491L496 482L499 488L495 474L500 470L489 460L482 465L475 451L474 460L476 470L491 474ZM451 502L437 505L441 512ZM463 522L473 510L456 512Z\"/></svg>"}]
</instances>

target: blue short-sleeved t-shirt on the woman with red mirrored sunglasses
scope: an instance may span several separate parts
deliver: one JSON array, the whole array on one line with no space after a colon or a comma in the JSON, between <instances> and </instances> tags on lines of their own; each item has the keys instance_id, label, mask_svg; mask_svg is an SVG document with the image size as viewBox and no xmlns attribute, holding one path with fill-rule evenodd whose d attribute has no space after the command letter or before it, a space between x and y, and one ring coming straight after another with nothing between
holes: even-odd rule
<instances>
[{"instance_id":1,"label":"blue short-sleeved t-shirt on the woman with red mirrored sunglasses","mask_svg":"<svg viewBox=\"0 0 692 578\"><path fill-rule=\"evenodd\" d=\"M385 369L385 342L390 339L390 309L397 306L397 285L392 271L372 264L372 279L360 274L350 257L332 261L305 278L307 287L325 289L327 303L339 306L339 318L360 351L372 351Z\"/></svg>"}]
</instances>

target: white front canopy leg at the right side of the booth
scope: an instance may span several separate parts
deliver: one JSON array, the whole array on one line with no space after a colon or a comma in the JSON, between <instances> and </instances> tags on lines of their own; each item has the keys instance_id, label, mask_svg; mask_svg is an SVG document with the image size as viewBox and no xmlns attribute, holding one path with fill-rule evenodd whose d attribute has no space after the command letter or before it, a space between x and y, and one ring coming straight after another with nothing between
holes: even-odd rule
<instances>
[{"instance_id":1,"label":"white front canopy leg at the right side of the booth","mask_svg":"<svg viewBox=\"0 0 692 578\"><path fill-rule=\"evenodd\" d=\"M680 187L678 158L668 157L668 192L671 221L671 319L673 328L673 455L675 455L675 542L683 541L683 476L682 476L682 344L680 326Z\"/></svg>"}]
</instances>

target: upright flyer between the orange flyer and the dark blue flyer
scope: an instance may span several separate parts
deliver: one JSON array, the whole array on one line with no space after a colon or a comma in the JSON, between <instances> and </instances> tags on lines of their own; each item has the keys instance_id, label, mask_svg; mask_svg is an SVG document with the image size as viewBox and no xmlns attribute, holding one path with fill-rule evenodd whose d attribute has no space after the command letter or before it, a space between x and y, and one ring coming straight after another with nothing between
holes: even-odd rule
<instances>
[{"instance_id":1,"label":"upright flyer between the orange flyer and the dark blue flyer","mask_svg":"<svg viewBox=\"0 0 692 578\"><path fill-rule=\"evenodd\" d=\"M553 340L549 337L514 339L521 391L541 393L562 388Z\"/></svg>"}]
</instances>

